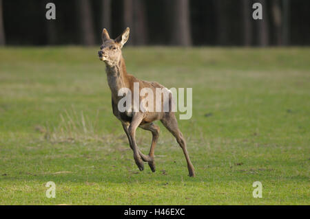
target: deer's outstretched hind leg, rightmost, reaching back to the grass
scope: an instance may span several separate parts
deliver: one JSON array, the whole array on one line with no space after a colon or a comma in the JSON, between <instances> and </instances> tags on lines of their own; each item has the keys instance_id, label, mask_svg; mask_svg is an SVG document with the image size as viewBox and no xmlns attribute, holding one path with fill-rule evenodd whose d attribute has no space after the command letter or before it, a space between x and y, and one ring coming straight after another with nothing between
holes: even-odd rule
<instances>
[{"instance_id":1,"label":"deer's outstretched hind leg, rightmost, reaching back to the grass","mask_svg":"<svg viewBox=\"0 0 310 219\"><path fill-rule=\"evenodd\" d=\"M172 112L167 113L163 117L163 119L161 119L161 122L167 128L167 130L169 130L169 132L171 132L172 135L174 135L176 141L178 141L178 144L182 148L183 153L185 155L185 159L187 161L187 169L189 172L189 176L195 176L194 166L192 165L192 162L189 159L189 154L186 148L186 141L182 135L182 132L180 132L180 130L178 129L178 122L176 121L176 116Z\"/></svg>"}]
</instances>

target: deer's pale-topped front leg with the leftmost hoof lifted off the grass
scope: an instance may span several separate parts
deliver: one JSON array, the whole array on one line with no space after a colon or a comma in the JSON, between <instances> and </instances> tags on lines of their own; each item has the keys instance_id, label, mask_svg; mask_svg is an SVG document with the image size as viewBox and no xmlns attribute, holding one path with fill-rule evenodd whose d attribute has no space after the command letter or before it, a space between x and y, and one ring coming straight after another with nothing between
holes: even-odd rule
<instances>
[{"instance_id":1,"label":"deer's pale-topped front leg with the leftmost hoof lifted off the grass","mask_svg":"<svg viewBox=\"0 0 310 219\"><path fill-rule=\"evenodd\" d=\"M142 113L134 113L132 116L132 122L128 128L128 133L132 141L132 150L134 151L134 161L136 161L136 165L138 165L138 168L141 171L144 170L144 164L143 160L141 159L141 155L139 154L138 146L136 145L136 128L141 124L142 119Z\"/></svg>"}]
</instances>

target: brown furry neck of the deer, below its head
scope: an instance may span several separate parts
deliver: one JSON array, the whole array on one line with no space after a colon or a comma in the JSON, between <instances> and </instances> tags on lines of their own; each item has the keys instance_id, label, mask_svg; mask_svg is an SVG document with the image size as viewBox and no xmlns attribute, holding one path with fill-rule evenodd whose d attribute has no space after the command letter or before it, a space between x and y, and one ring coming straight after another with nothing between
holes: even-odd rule
<instances>
[{"instance_id":1,"label":"brown furry neck of the deer, below its head","mask_svg":"<svg viewBox=\"0 0 310 219\"><path fill-rule=\"evenodd\" d=\"M107 83L112 92L112 96L118 96L118 90L127 86L127 71L125 66L125 60L121 57L121 60L116 64L109 66L105 69L107 72Z\"/></svg>"}]
</instances>

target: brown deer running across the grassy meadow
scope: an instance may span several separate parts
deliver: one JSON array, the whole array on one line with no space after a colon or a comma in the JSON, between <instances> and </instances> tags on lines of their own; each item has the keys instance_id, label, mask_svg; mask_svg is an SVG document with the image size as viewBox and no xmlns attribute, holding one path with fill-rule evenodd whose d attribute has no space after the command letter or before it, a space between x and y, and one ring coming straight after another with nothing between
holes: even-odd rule
<instances>
[{"instance_id":1,"label":"brown deer running across the grassy meadow","mask_svg":"<svg viewBox=\"0 0 310 219\"><path fill-rule=\"evenodd\" d=\"M106 73L107 73L107 83L111 89L112 93L112 111L113 114L121 121L123 129L127 135L128 141L130 143L130 148L134 151L134 161L138 165L139 170L144 170L143 162L149 164L152 172L155 172L155 163L154 163L154 150L156 142L159 137L159 126L154 124L154 121L161 120L163 126L169 130L169 132L174 135L176 141L182 148L187 161L187 168L189 171L189 176L195 176L194 166L189 159L189 154L186 149L186 142L182 135L182 132L178 129L178 122L174 112L169 108L169 111L154 111L154 108L146 108L146 111L138 110L134 111L134 105L130 106L130 110L121 112L118 109L118 102L123 98L123 96L118 95L118 91L123 88L134 93L134 84L138 84L138 91L140 93L141 89L148 88L156 93L156 88L165 89L163 85L158 84L157 82L147 82L145 80L138 80L134 76L130 75L126 71L125 60L122 55L122 47L127 42L130 34L129 27L118 36L116 39L111 39L107 30L103 29L102 32L102 41L103 44L100 47L98 52L99 59L105 62ZM164 101L163 97L159 98L162 102ZM169 103L172 102L172 96L169 95ZM138 106L143 100L143 97L139 95L138 97ZM156 98L154 97L154 100ZM161 104L163 106L163 104ZM152 144L149 150L149 154L143 154L136 144L136 128L143 128L152 132Z\"/></svg>"}]
</instances>

